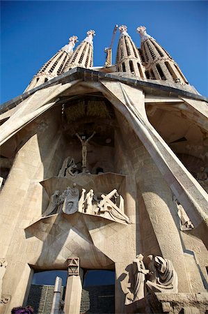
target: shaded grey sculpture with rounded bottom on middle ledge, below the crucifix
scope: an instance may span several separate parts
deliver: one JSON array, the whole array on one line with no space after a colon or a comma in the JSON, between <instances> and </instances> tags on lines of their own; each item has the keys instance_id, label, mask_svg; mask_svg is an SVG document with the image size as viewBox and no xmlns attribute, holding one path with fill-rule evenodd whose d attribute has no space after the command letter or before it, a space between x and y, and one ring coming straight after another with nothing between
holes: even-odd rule
<instances>
[{"instance_id":1,"label":"shaded grey sculpture with rounded bottom on middle ledge, below the crucifix","mask_svg":"<svg viewBox=\"0 0 208 314\"><path fill-rule=\"evenodd\" d=\"M79 190L76 186L77 184L74 183L72 188L69 186L67 187L65 201L62 208L62 211L65 214L74 214L78 211Z\"/></svg>"}]
</instances>

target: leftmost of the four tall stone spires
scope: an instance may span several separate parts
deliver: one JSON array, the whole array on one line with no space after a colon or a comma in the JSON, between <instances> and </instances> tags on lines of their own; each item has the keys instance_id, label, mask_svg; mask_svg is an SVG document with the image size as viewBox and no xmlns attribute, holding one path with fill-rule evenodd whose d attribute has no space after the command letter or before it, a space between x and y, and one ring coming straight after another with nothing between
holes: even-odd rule
<instances>
[{"instance_id":1,"label":"leftmost of the four tall stone spires","mask_svg":"<svg viewBox=\"0 0 208 314\"><path fill-rule=\"evenodd\" d=\"M47 61L47 63L44 64L44 66L42 66L42 68L40 68L25 91L34 89L35 87L63 73L63 68L70 59L74 45L78 41L77 36L72 36L69 40L70 41L67 45L63 46L61 50L59 50L53 57L51 57L51 59L49 59L49 61Z\"/></svg>"}]
</instances>

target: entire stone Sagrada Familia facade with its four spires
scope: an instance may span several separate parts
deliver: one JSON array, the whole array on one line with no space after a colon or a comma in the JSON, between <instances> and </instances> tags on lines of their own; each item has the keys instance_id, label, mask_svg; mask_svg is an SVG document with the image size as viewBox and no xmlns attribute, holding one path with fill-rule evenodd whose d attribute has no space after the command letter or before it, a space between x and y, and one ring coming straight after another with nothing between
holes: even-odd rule
<instances>
[{"instance_id":1,"label":"entire stone Sagrada Familia facade with its four spires","mask_svg":"<svg viewBox=\"0 0 208 314\"><path fill-rule=\"evenodd\" d=\"M72 36L1 106L2 314L54 269L53 314L80 313L89 269L115 271L115 313L207 313L207 98L145 27L139 48L119 30L115 64Z\"/></svg>"}]
</instances>

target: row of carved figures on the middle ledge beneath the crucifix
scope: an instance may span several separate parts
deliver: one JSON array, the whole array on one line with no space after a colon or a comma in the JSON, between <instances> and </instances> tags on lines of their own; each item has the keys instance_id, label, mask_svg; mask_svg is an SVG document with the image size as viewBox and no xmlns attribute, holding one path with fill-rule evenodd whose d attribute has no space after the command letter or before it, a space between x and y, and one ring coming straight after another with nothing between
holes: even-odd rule
<instances>
[{"instance_id":1,"label":"row of carved figures on the middle ledge beneath the crucifix","mask_svg":"<svg viewBox=\"0 0 208 314\"><path fill-rule=\"evenodd\" d=\"M124 211L124 199L116 189L107 195L101 193L95 195L93 189L86 193L86 189L82 188L79 195L77 184L74 183L72 188L68 186L61 194L59 190L55 190L43 216L58 214L61 211L65 214L80 211L85 214L99 215L118 223L129 223L129 218Z\"/></svg>"}]
</instances>

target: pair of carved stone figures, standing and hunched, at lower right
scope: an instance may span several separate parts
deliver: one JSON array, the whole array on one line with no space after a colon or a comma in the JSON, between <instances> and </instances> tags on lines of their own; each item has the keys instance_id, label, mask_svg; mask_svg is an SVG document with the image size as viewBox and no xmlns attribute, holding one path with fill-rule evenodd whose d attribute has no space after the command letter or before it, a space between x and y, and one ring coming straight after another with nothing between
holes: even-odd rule
<instances>
[{"instance_id":1,"label":"pair of carved stone figures, standing and hunched, at lower right","mask_svg":"<svg viewBox=\"0 0 208 314\"><path fill-rule=\"evenodd\" d=\"M126 290L126 305L143 299L148 292L177 293L177 274L170 260L154 255L149 255L147 260L147 269L142 254L133 260L129 271L130 287Z\"/></svg>"}]
</instances>

